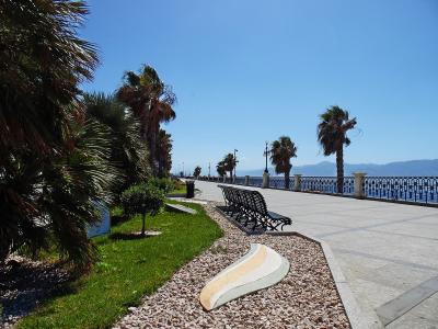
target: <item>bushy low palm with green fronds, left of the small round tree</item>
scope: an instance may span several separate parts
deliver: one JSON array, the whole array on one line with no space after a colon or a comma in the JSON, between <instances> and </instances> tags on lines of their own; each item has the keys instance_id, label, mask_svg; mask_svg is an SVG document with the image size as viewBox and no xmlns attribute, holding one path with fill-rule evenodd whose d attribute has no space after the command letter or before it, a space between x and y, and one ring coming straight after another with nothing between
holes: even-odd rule
<instances>
[{"instance_id":1,"label":"bushy low palm with green fronds, left of the small round tree","mask_svg":"<svg viewBox=\"0 0 438 329\"><path fill-rule=\"evenodd\" d=\"M96 203L113 203L112 188L120 183L120 174L111 161L106 126L93 118L71 126L62 156L44 168L42 191L36 193L42 213L34 220L45 218L44 237L53 235L60 254L83 269L97 258L87 237L88 226L99 220Z\"/></svg>"}]
</instances>

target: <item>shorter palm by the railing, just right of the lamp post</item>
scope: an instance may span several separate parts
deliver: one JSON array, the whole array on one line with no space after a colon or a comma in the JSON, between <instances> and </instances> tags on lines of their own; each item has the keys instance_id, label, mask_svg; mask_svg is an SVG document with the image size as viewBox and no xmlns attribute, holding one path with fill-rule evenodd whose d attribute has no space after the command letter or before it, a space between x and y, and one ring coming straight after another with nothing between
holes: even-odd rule
<instances>
[{"instance_id":1,"label":"shorter palm by the railing, just right of the lamp post","mask_svg":"<svg viewBox=\"0 0 438 329\"><path fill-rule=\"evenodd\" d=\"M281 136L270 145L270 162L275 166L276 173L285 174L285 189L290 186L290 158L297 157L297 147L288 136Z\"/></svg>"}]
</instances>

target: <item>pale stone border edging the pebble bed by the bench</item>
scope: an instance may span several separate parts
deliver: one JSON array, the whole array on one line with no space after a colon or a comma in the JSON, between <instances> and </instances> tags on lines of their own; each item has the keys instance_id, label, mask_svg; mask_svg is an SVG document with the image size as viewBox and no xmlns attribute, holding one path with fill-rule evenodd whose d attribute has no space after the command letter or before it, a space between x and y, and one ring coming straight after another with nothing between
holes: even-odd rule
<instances>
[{"instance_id":1,"label":"pale stone border edging the pebble bed by the bench","mask_svg":"<svg viewBox=\"0 0 438 329\"><path fill-rule=\"evenodd\" d=\"M220 213L228 222L232 223L235 227L240 228L246 235L254 235L247 229L243 229L241 225L229 218L220 208L214 207L218 213ZM320 245L324 258L327 262L332 279L336 285L337 294L344 305L345 313L347 314L348 321L351 329L380 329L383 328L377 314L373 311L366 311L357 304L355 296L351 293L348 281L345 279L344 273L337 263L335 256L333 254L332 248L323 240L315 237L304 235L303 232L292 230L292 231L266 231L265 235L269 236L299 236L301 238L308 239ZM258 234L260 235L260 234Z\"/></svg>"}]
</instances>

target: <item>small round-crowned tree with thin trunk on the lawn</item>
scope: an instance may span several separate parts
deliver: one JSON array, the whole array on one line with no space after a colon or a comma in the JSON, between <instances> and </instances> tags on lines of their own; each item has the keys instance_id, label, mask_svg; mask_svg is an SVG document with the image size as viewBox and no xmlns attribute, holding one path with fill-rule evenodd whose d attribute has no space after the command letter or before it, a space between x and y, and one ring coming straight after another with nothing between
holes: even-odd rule
<instances>
[{"instance_id":1,"label":"small round-crowned tree with thin trunk on the lawn","mask_svg":"<svg viewBox=\"0 0 438 329\"><path fill-rule=\"evenodd\" d=\"M154 216L164 203L164 193L151 184L132 185L122 193L125 214L142 215L141 236L146 234L146 215Z\"/></svg>"}]
</instances>

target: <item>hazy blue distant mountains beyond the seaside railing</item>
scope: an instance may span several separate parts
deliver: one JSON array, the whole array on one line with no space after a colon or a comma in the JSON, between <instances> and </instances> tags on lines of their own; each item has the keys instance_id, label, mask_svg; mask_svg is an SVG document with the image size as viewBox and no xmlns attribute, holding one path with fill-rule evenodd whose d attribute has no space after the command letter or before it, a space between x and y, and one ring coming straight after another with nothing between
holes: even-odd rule
<instances>
[{"instance_id":1,"label":"hazy blue distant mountains beyond the seaside railing","mask_svg":"<svg viewBox=\"0 0 438 329\"><path fill-rule=\"evenodd\" d=\"M262 175L263 170L239 170L238 168L238 175ZM275 174L273 168L268 168L268 170L270 174ZM399 161L385 164L345 163L344 171L346 175L350 175L356 171L366 172L368 175L438 175L438 159ZM303 175L336 175L336 164L323 161L316 164L293 166L291 174L293 173L301 173Z\"/></svg>"}]
</instances>

